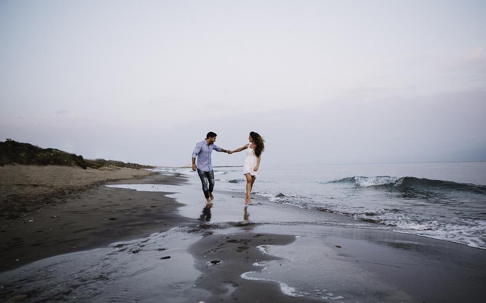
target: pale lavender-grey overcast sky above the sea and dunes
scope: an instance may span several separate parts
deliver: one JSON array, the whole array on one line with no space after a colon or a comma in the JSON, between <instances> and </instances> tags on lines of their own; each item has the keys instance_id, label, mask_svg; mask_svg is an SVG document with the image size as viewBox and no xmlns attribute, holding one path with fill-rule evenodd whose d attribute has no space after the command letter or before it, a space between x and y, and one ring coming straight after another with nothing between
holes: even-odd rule
<instances>
[{"instance_id":1,"label":"pale lavender-grey overcast sky above the sea and dunes","mask_svg":"<svg viewBox=\"0 0 486 303\"><path fill-rule=\"evenodd\" d=\"M0 140L181 166L486 160L484 1L0 1ZM241 165L244 153L213 153Z\"/></svg>"}]
</instances>

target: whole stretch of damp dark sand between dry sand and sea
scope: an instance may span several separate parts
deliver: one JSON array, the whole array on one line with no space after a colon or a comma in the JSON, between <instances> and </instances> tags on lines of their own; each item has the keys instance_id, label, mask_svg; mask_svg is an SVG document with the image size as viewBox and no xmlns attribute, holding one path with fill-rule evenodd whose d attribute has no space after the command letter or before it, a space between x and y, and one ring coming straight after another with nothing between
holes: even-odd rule
<instances>
[{"instance_id":1,"label":"whole stretch of damp dark sand between dry sand and sea","mask_svg":"<svg viewBox=\"0 0 486 303\"><path fill-rule=\"evenodd\" d=\"M222 181L205 207L190 171L113 179L2 217L2 301L480 302L484 295L484 249L357 226L258 194L246 206L241 192L218 190Z\"/></svg>"}]
</instances>

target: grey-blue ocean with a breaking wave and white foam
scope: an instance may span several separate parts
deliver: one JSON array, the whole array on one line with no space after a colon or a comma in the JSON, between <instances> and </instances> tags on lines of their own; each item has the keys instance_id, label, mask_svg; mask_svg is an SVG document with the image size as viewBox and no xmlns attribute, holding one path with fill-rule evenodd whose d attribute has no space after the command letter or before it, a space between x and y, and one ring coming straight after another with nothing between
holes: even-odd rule
<instances>
[{"instance_id":1,"label":"grey-blue ocean with a breaking wave and white foam","mask_svg":"<svg viewBox=\"0 0 486 303\"><path fill-rule=\"evenodd\" d=\"M190 168L155 169L186 175ZM215 192L242 195L241 167L215 167ZM356 228L391 229L486 249L486 162L265 166L253 192L275 204L331 212Z\"/></svg>"}]
</instances>

